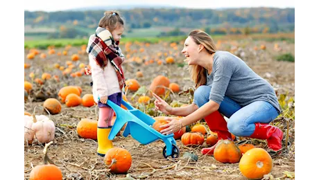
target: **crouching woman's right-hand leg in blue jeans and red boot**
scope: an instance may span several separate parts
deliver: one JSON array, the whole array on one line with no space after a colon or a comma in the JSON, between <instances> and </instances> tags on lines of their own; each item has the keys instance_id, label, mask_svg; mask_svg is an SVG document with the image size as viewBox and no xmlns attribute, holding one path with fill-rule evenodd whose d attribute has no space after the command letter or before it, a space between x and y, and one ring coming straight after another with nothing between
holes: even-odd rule
<instances>
[{"instance_id":1,"label":"crouching woman's right-hand leg in blue jeans and red boot","mask_svg":"<svg viewBox=\"0 0 319 180\"><path fill-rule=\"evenodd\" d=\"M235 136L266 139L272 150L282 148L282 130L268 125L277 118L278 111L266 101L256 101L236 111L228 120L227 127Z\"/></svg>"}]
</instances>

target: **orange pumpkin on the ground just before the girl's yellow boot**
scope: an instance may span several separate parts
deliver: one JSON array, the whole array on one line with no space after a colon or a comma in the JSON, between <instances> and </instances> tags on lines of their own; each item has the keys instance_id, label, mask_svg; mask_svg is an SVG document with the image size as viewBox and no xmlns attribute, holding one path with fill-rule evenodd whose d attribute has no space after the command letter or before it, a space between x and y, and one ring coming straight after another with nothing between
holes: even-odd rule
<instances>
[{"instance_id":1,"label":"orange pumpkin on the ground just before the girl's yellow boot","mask_svg":"<svg viewBox=\"0 0 319 180\"><path fill-rule=\"evenodd\" d=\"M132 165L132 156L128 150L121 147L112 147L104 156L104 163L110 168L110 172L123 174L128 172Z\"/></svg>"}]
</instances>

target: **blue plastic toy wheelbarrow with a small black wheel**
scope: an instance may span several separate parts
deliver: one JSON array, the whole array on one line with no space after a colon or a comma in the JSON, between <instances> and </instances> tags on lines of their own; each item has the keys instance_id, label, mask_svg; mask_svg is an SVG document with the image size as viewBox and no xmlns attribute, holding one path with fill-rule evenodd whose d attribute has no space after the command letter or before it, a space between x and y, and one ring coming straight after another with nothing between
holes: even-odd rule
<instances>
[{"instance_id":1,"label":"blue plastic toy wheelbarrow with a small black wheel","mask_svg":"<svg viewBox=\"0 0 319 180\"><path fill-rule=\"evenodd\" d=\"M163 148L164 158L169 156L172 158L178 158L180 155L180 150L176 145L173 133L164 135L160 132L157 132L157 130L152 127L153 123L155 122L152 117L144 114L144 112L140 111L139 109L135 109L125 100L121 100L121 104L124 105L127 110L118 106L114 102L107 100L107 105L112 107L117 115L117 118L108 136L110 140L113 140L123 125L127 123L122 134L124 137L127 137L130 134L132 138L135 138L135 140L139 141L139 143L143 145L162 139L162 141L165 143L165 147Z\"/></svg>"}]
</instances>

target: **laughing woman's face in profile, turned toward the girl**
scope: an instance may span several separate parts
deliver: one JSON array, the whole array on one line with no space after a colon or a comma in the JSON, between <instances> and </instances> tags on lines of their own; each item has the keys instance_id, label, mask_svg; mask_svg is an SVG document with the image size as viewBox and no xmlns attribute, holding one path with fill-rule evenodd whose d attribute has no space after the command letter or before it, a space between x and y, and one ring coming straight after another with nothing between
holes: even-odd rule
<instances>
[{"instance_id":1,"label":"laughing woman's face in profile, turned toward the girl","mask_svg":"<svg viewBox=\"0 0 319 180\"><path fill-rule=\"evenodd\" d=\"M187 58L187 63L189 65L196 64L196 60L199 53L198 48L199 48L199 45L193 41L192 37L187 37L187 39L185 39L182 53Z\"/></svg>"}]
</instances>

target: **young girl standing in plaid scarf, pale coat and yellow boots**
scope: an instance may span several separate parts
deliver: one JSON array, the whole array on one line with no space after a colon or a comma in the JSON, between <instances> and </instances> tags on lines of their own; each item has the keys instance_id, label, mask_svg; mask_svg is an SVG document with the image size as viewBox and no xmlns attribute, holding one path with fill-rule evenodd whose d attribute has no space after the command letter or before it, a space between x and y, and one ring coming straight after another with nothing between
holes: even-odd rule
<instances>
[{"instance_id":1,"label":"young girl standing in plaid scarf, pale coat and yellow boots","mask_svg":"<svg viewBox=\"0 0 319 180\"><path fill-rule=\"evenodd\" d=\"M98 104L97 153L105 156L107 150L113 147L108 139L112 128L113 109L107 105L111 100L121 106L122 88L125 84L121 64L124 55L119 48L119 40L124 30L123 19L117 12L106 11L96 28L96 33L89 37L87 53L90 69L86 74L92 74L92 93Z\"/></svg>"}]
</instances>

